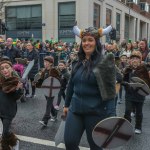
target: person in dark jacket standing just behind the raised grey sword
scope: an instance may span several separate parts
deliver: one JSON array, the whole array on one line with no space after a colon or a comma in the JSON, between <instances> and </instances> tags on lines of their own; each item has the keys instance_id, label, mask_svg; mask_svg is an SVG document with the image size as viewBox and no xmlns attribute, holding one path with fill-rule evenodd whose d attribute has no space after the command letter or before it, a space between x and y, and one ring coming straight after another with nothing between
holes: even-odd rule
<instances>
[{"instance_id":1,"label":"person in dark jacket standing just behind the raised grey sword","mask_svg":"<svg viewBox=\"0 0 150 150\"><path fill-rule=\"evenodd\" d=\"M34 98L36 95L35 95L35 85L34 85L33 81L34 81L34 76L38 72L38 58L39 58L39 56L38 56L38 52L34 49L33 44L31 42L27 43L27 49L28 49L28 56L27 56L28 63L29 63L29 61L34 60L34 66L28 75L28 79L31 81L32 93L30 95L29 91L26 91L26 97Z\"/></svg>"}]
</instances>

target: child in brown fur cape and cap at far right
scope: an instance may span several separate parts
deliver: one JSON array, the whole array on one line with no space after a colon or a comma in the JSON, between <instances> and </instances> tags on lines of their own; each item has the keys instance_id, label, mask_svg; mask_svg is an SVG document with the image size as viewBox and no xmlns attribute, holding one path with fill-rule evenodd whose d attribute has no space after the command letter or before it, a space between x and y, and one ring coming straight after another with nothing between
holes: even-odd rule
<instances>
[{"instance_id":1,"label":"child in brown fur cape and cap at far right","mask_svg":"<svg viewBox=\"0 0 150 150\"><path fill-rule=\"evenodd\" d=\"M135 133L142 133L142 119L143 119L143 104L145 96L140 95L137 90L133 89L128 83L131 82L132 77L139 77L147 80L148 86L150 85L149 75L147 68L141 63L142 54L140 51L133 51L130 56L130 65L124 70L125 85L125 115L124 117L131 122L131 111L135 107Z\"/></svg>"}]
</instances>

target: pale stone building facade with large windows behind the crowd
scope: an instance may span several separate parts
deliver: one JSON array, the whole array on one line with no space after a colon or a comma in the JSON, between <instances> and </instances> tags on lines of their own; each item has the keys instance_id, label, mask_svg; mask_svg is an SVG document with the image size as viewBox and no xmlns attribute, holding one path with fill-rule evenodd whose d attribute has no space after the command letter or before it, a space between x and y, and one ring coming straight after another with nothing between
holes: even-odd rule
<instances>
[{"instance_id":1,"label":"pale stone building facade with large windows behind the crowd","mask_svg":"<svg viewBox=\"0 0 150 150\"><path fill-rule=\"evenodd\" d=\"M119 0L11 0L5 7L6 37L79 42L75 20L81 29L112 24L118 41L150 39L150 19Z\"/></svg>"}]
</instances>

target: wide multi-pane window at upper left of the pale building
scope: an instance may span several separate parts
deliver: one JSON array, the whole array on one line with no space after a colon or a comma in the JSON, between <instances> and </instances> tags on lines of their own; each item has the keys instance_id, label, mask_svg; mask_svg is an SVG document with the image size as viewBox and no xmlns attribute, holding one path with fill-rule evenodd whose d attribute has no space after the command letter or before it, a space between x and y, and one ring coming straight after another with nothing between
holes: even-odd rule
<instances>
[{"instance_id":1,"label":"wide multi-pane window at upper left of the pale building","mask_svg":"<svg viewBox=\"0 0 150 150\"><path fill-rule=\"evenodd\" d=\"M8 30L42 29L41 5L6 7Z\"/></svg>"}]
</instances>

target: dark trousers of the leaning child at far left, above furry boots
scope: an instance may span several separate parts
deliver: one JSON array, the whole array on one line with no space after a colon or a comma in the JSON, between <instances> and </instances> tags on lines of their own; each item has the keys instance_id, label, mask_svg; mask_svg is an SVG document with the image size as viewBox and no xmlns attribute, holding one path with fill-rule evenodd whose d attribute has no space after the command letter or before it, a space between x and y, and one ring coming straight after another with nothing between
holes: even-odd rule
<instances>
[{"instance_id":1,"label":"dark trousers of the leaning child at far left, above furry boots","mask_svg":"<svg viewBox=\"0 0 150 150\"><path fill-rule=\"evenodd\" d=\"M11 133L10 128L11 128L12 119L7 119L3 117L0 117L0 119L2 120L2 124L3 124L2 136L7 136Z\"/></svg>"}]
</instances>

